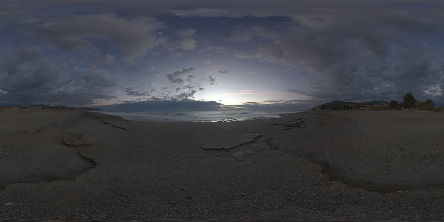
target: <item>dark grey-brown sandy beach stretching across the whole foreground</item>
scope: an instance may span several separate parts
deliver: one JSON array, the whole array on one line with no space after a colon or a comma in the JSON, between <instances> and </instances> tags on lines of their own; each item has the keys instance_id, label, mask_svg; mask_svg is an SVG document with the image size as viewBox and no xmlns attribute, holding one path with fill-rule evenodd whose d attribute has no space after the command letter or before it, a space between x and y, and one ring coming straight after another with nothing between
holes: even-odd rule
<instances>
[{"instance_id":1,"label":"dark grey-brown sandy beach stretching across the whole foreground","mask_svg":"<svg viewBox=\"0 0 444 222\"><path fill-rule=\"evenodd\" d=\"M444 220L442 113L158 123L2 111L0 143L4 221Z\"/></svg>"}]
</instances>

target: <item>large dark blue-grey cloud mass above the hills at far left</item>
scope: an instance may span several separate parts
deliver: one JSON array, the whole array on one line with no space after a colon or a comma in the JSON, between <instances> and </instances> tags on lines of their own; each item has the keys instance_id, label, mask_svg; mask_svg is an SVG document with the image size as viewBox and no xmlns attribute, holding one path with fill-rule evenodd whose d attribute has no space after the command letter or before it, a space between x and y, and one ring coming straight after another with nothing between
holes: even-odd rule
<instances>
[{"instance_id":1,"label":"large dark blue-grey cloud mass above the hills at far left","mask_svg":"<svg viewBox=\"0 0 444 222\"><path fill-rule=\"evenodd\" d=\"M67 70L40 59L39 48L11 51L0 61L0 104L87 105L115 98L117 80L99 69Z\"/></svg>"}]
</instances>

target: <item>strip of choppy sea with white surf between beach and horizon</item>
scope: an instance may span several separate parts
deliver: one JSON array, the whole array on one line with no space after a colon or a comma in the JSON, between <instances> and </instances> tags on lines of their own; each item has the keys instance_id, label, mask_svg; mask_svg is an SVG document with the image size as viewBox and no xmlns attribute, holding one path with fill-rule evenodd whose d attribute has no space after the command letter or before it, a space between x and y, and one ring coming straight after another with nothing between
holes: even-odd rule
<instances>
[{"instance_id":1,"label":"strip of choppy sea with white surf between beach and horizon","mask_svg":"<svg viewBox=\"0 0 444 222\"><path fill-rule=\"evenodd\" d=\"M149 122L233 122L279 118L300 111L98 111L132 121Z\"/></svg>"}]
</instances>

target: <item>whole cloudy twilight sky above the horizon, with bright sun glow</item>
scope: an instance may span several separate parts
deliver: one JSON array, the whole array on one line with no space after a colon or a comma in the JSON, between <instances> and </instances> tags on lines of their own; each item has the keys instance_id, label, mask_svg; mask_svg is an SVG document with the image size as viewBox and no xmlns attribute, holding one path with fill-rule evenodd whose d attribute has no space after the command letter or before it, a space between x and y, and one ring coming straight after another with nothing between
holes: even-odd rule
<instances>
[{"instance_id":1,"label":"whole cloudy twilight sky above the horizon, with bright sun glow","mask_svg":"<svg viewBox=\"0 0 444 222\"><path fill-rule=\"evenodd\" d=\"M0 0L0 105L444 106L440 0Z\"/></svg>"}]
</instances>

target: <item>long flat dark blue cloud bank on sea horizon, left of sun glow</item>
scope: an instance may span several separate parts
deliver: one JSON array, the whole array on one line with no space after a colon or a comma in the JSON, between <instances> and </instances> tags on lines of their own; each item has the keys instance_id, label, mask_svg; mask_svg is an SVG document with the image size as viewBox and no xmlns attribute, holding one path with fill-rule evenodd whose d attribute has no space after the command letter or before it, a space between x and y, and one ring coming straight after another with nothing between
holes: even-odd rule
<instances>
[{"instance_id":1,"label":"long flat dark blue cloud bank on sea horizon, left of sun glow","mask_svg":"<svg viewBox=\"0 0 444 222\"><path fill-rule=\"evenodd\" d=\"M148 100L127 102L98 107L106 111L218 111L221 105L215 101L183 100Z\"/></svg>"}]
</instances>

